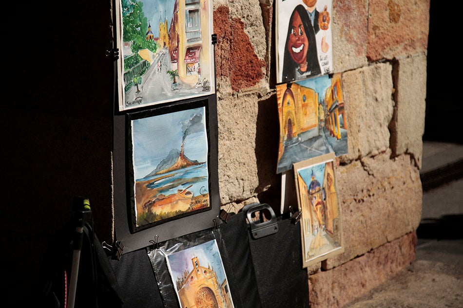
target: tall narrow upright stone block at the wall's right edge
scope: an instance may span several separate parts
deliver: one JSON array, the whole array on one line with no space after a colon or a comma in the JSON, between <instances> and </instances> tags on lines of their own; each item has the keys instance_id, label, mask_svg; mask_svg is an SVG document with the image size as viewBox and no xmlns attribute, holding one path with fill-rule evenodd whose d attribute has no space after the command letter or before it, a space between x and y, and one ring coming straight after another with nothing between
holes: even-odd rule
<instances>
[{"instance_id":1,"label":"tall narrow upright stone block at the wall's right edge","mask_svg":"<svg viewBox=\"0 0 463 308\"><path fill-rule=\"evenodd\" d=\"M410 154L419 168L423 157L426 63L426 56L419 54L399 59L392 70L396 102L389 126L392 154Z\"/></svg>"}]
</instances>

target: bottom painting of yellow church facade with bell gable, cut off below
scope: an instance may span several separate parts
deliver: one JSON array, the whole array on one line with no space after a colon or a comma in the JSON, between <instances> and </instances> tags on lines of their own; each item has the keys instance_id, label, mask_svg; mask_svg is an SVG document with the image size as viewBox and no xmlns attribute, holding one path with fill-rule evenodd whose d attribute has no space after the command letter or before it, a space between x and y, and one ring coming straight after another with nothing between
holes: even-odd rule
<instances>
[{"instance_id":1,"label":"bottom painting of yellow church facade with bell gable, cut off below","mask_svg":"<svg viewBox=\"0 0 463 308\"><path fill-rule=\"evenodd\" d=\"M234 307L215 239L166 258L181 308Z\"/></svg>"}]
</instances>

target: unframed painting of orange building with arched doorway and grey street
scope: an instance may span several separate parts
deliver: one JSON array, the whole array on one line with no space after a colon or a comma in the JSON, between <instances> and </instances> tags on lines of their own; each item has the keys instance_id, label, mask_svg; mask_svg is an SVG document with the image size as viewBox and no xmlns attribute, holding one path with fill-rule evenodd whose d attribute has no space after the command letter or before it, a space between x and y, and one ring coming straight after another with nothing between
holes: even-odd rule
<instances>
[{"instance_id":1,"label":"unframed painting of orange building with arched doorway and grey street","mask_svg":"<svg viewBox=\"0 0 463 308\"><path fill-rule=\"evenodd\" d=\"M347 154L341 73L277 85L276 94L280 122L277 173L330 152Z\"/></svg>"}]
</instances>

